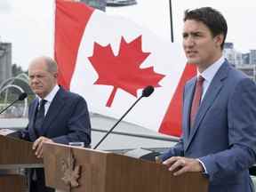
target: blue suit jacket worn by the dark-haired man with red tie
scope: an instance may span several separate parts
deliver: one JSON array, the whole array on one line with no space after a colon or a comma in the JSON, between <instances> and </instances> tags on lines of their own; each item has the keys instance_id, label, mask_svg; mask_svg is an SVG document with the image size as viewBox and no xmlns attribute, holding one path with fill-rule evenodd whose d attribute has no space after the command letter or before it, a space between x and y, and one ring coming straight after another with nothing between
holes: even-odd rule
<instances>
[{"instance_id":1,"label":"blue suit jacket worn by the dark-haired man with red tie","mask_svg":"<svg viewBox=\"0 0 256 192\"><path fill-rule=\"evenodd\" d=\"M256 85L226 60L213 77L190 128L195 85L196 77L185 85L182 137L163 160L170 156L199 158L209 175L210 192L252 191L248 168L256 159Z\"/></svg>"}]
</instances>

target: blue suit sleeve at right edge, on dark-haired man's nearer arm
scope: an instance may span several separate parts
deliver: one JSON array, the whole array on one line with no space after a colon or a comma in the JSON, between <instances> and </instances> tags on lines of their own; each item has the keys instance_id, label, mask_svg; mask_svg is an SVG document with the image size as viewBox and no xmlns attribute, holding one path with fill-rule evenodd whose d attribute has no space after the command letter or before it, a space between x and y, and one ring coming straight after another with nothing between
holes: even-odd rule
<instances>
[{"instance_id":1,"label":"blue suit sleeve at right edge, on dark-haired man's nearer arm","mask_svg":"<svg viewBox=\"0 0 256 192\"><path fill-rule=\"evenodd\" d=\"M234 175L255 164L256 85L250 79L236 84L228 100L228 140L228 149L199 158L210 180Z\"/></svg>"}]
</instances>

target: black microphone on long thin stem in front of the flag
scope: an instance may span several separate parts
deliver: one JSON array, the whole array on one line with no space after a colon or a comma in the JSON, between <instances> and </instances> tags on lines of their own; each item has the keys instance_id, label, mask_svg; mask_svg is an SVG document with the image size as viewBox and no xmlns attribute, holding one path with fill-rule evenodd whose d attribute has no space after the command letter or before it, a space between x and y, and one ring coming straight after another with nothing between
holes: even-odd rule
<instances>
[{"instance_id":1,"label":"black microphone on long thin stem in front of the flag","mask_svg":"<svg viewBox=\"0 0 256 192\"><path fill-rule=\"evenodd\" d=\"M101 140L95 145L95 147L94 147L93 149L96 149L96 148L99 147L100 143L101 143L103 140L106 139L106 137L108 136L108 134L109 134L110 132L112 132L112 131L115 129L116 125L119 124L119 123L122 121L122 119L124 118L124 116L126 116L126 115L130 112L130 110L137 104L137 102L139 102L139 100L141 100L141 98L143 98L143 97L149 97L149 96L152 94L152 92L154 92L154 87L153 87L152 85L148 85L147 87L145 87L145 88L143 89L143 91L142 91L142 94L141 94L140 98L139 98L138 100L136 100L136 101L132 104L132 106L131 106L130 108L128 108L128 110L124 113L124 115L121 116L121 118L116 122L116 124L114 124L114 125L112 126L112 128L104 135L103 138L101 138Z\"/></svg>"}]
</instances>

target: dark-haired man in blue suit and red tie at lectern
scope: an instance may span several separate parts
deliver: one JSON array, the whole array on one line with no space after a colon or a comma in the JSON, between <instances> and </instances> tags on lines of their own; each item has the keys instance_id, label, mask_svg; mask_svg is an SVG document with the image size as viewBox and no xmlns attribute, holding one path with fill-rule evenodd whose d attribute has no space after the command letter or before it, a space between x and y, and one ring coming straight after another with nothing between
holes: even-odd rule
<instances>
[{"instance_id":1,"label":"dark-haired man in blue suit and red tie at lectern","mask_svg":"<svg viewBox=\"0 0 256 192\"><path fill-rule=\"evenodd\" d=\"M161 158L174 175L208 175L210 192L249 192L248 168L256 161L256 85L224 59L227 31L226 20L211 7L185 12L183 48L197 76L184 87L180 141Z\"/></svg>"}]
</instances>

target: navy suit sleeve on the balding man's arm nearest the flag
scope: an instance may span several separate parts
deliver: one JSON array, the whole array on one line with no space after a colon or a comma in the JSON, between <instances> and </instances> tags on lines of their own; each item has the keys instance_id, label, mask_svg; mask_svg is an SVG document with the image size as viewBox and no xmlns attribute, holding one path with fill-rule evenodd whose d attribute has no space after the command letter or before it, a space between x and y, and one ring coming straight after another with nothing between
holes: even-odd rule
<instances>
[{"instance_id":1,"label":"navy suit sleeve on the balding man's arm nearest the flag","mask_svg":"<svg viewBox=\"0 0 256 192\"><path fill-rule=\"evenodd\" d=\"M68 134L52 138L54 142L68 144L68 142L84 142L88 147L91 143L91 123L86 101L82 97L77 97L68 117Z\"/></svg>"}]
</instances>

